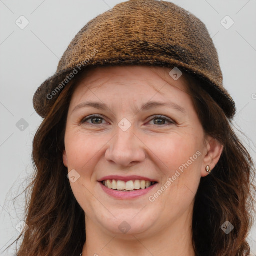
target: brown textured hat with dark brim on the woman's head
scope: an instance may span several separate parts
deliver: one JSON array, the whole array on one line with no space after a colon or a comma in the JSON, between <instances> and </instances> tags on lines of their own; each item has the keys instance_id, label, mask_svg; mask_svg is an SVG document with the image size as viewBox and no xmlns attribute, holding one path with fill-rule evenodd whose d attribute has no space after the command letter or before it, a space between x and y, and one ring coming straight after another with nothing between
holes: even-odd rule
<instances>
[{"instance_id":1,"label":"brown textured hat with dark brim on the woman's head","mask_svg":"<svg viewBox=\"0 0 256 256\"><path fill-rule=\"evenodd\" d=\"M178 67L203 81L228 118L235 113L205 25L183 8L157 0L129 0L90 20L67 47L55 74L35 92L34 109L46 117L77 73L88 66L110 65Z\"/></svg>"}]
</instances>

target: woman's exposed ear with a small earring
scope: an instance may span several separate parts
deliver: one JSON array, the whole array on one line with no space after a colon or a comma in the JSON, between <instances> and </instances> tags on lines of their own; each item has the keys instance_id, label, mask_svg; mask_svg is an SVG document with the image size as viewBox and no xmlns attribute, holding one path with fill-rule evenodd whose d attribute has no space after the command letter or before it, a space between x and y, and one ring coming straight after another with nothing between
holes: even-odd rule
<instances>
[{"instance_id":1,"label":"woman's exposed ear with a small earring","mask_svg":"<svg viewBox=\"0 0 256 256\"><path fill-rule=\"evenodd\" d=\"M201 176L205 177L209 174L209 172L206 172L205 168L207 165L209 165L210 169L212 170L221 154L223 151L223 145L220 144L219 141L217 141L216 139L207 136L206 138L206 145L205 145L205 154L204 154L204 158L202 161L202 166L201 166Z\"/></svg>"}]
</instances>

